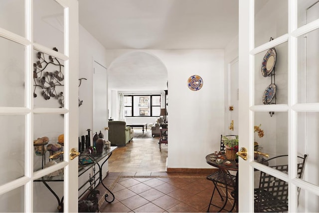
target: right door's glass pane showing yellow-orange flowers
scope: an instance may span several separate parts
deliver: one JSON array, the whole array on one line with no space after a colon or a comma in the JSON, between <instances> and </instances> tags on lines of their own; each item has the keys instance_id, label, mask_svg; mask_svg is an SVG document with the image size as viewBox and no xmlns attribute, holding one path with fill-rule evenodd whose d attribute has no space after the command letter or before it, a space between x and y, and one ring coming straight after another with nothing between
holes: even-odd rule
<instances>
[{"instance_id":1,"label":"right door's glass pane showing yellow-orange flowers","mask_svg":"<svg viewBox=\"0 0 319 213\"><path fill-rule=\"evenodd\" d=\"M269 155L267 158L257 154L256 161L264 163L270 158L288 155L287 112L275 112L272 117L269 112L255 112L254 125L255 151Z\"/></svg>"}]
</instances>

